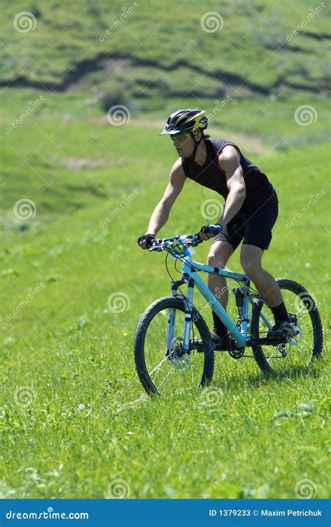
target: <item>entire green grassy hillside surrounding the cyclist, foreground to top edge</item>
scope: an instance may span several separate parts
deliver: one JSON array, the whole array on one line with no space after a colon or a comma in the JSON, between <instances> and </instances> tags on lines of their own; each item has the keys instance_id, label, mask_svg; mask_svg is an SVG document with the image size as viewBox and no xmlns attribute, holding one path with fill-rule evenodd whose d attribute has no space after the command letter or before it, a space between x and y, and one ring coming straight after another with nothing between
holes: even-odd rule
<instances>
[{"instance_id":1,"label":"entire green grassy hillside surrounding the cyclist, foreground to top edge","mask_svg":"<svg viewBox=\"0 0 331 527\"><path fill-rule=\"evenodd\" d=\"M137 4L1 3L0 497L114 498L122 480L129 498L295 498L308 479L327 498L329 7ZM119 103L128 119L115 126ZM276 187L265 268L314 295L325 346L277 379L219 353L210 400L184 387L154 400L133 335L170 283L164 254L136 238L177 157L159 133L183 107L205 108L212 137L234 140ZM200 229L213 197L186 181L160 235ZM238 254L229 267L241 270ZM109 307L117 292L122 312Z\"/></svg>"}]
</instances>

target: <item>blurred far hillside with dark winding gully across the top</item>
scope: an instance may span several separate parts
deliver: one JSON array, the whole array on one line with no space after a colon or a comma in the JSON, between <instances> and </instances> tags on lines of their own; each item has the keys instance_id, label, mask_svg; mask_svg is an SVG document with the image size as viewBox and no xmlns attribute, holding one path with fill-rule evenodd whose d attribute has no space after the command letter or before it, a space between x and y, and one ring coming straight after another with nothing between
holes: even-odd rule
<instances>
[{"instance_id":1,"label":"blurred far hillside with dark winding gully across the top","mask_svg":"<svg viewBox=\"0 0 331 527\"><path fill-rule=\"evenodd\" d=\"M5 2L0 75L3 85L125 91L135 99L277 95L288 85L286 96L324 95L329 10L309 0Z\"/></svg>"}]
</instances>

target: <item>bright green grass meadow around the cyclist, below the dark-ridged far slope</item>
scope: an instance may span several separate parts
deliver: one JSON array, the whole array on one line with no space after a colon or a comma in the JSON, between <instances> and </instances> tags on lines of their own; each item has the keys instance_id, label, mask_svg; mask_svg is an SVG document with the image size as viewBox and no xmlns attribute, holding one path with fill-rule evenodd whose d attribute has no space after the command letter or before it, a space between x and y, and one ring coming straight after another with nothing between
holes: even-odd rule
<instances>
[{"instance_id":1,"label":"bright green grass meadow around the cyclist, below the dark-ridged far slope","mask_svg":"<svg viewBox=\"0 0 331 527\"><path fill-rule=\"evenodd\" d=\"M15 89L7 94L4 128L31 98ZM314 130L323 133L323 115L311 127L298 127L293 108L285 101L272 103L267 110L272 116L287 115L286 122L272 121L272 133L288 133L290 143L296 134L302 137L303 146L293 143L279 152L267 136L265 112L253 135L237 129L242 149L247 141L256 152L253 161L279 194L265 268L314 294L325 331L323 359L301 375L272 380L251 359L216 354L212 389L216 398L221 391L223 400L208 406L193 390L171 400L145 398L133 363L141 313L170 291L164 255L142 252L135 242L175 160L170 141L157 135L164 115L155 111L144 122L133 112L125 126L110 127L96 106L80 108L83 100L47 96L45 106L10 135L3 133L1 142L1 494L104 498L110 497L108 484L123 479L131 498L295 498L295 484L311 479L316 498L326 498L328 194L286 227L311 194L328 191L328 145L307 141ZM268 102L261 100L260 108ZM254 104L247 103L247 124ZM235 116L243 111L230 105L223 111L228 129L236 131ZM68 113L72 119L64 120ZM226 127L219 124L215 131ZM265 154L254 150L257 141ZM87 164L70 168L68 159ZM104 164L95 166L96 161ZM101 229L100 222L135 189L137 196ZM212 196L206 189L205 198ZM21 198L36 204L29 221L13 215ZM161 236L198 230L202 201L200 188L186 182ZM209 243L198 247L196 259L205 261L208 249ZM240 270L238 255L229 267ZM10 315L41 283L41 291ZM107 304L115 291L130 300L128 310L118 314ZM198 296L196 301L202 308ZM234 315L233 304L230 312ZM211 314L205 319L210 323ZM309 405L309 412L302 405ZM279 417L281 410L292 413Z\"/></svg>"}]
</instances>

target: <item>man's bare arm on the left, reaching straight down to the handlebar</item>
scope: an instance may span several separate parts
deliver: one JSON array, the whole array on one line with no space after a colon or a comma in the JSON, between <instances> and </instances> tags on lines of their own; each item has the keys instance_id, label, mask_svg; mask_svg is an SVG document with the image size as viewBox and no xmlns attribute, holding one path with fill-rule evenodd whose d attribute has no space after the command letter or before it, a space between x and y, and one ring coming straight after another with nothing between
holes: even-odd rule
<instances>
[{"instance_id":1,"label":"man's bare arm on the left, reaching straight down to the handlebar","mask_svg":"<svg viewBox=\"0 0 331 527\"><path fill-rule=\"evenodd\" d=\"M172 166L170 182L165 189L161 201L159 201L159 203L154 208L151 219L149 220L147 233L156 236L163 225L165 225L168 220L172 205L175 203L177 197L182 191L185 180L186 176L182 167L182 159L177 159L174 166ZM142 249L147 248L145 247L146 244L144 240L142 240L139 245L142 247Z\"/></svg>"}]
</instances>

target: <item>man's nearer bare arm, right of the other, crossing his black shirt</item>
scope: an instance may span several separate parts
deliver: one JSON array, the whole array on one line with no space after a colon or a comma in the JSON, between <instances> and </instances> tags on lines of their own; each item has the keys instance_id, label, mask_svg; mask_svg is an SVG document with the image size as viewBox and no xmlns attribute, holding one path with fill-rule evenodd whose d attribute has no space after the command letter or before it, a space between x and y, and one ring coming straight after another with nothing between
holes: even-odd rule
<instances>
[{"instance_id":1,"label":"man's nearer bare arm, right of the other, crossing his black shirt","mask_svg":"<svg viewBox=\"0 0 331 527\"><path fill-rule=\"evenodd\" d=\"M223 148L219 155L219 166L226 173L226 185L229 193L223 213L217 223L226 225L239 212L242 203L244 203L244 198L246 198L244 175L242 174L240 157L235 147L228 145Z\"/></svg>"}]
</instances>

